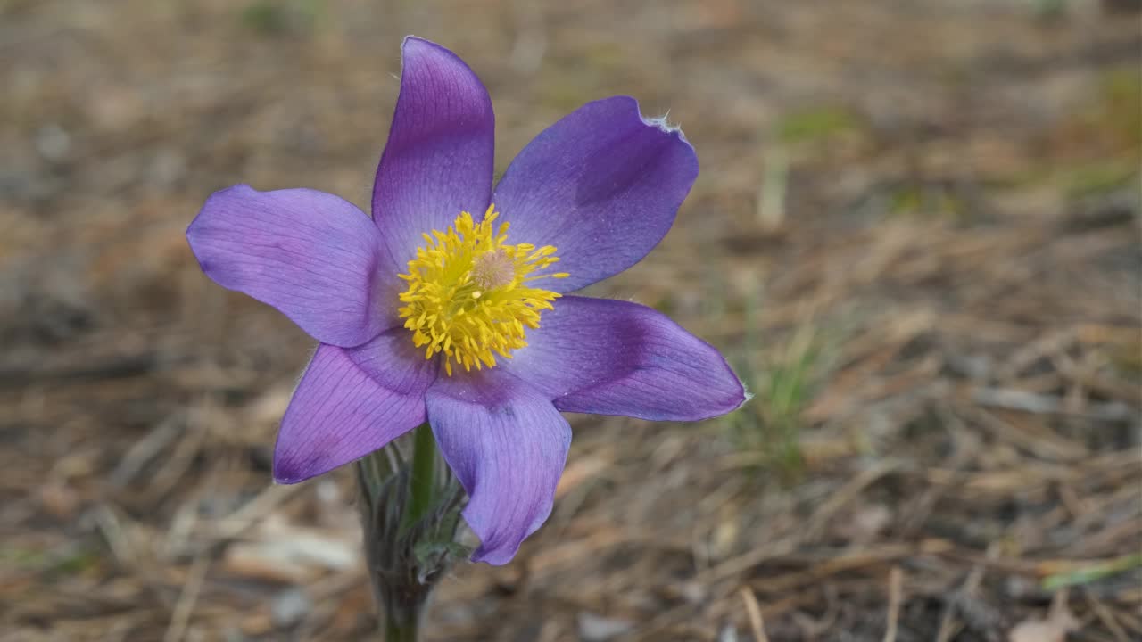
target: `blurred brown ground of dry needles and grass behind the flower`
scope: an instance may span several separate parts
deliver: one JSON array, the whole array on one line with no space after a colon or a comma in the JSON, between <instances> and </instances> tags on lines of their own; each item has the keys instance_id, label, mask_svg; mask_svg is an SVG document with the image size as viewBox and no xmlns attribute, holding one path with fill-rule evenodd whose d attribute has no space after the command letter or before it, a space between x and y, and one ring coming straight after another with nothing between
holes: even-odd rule
<instances>
[{"instance_id":1,"label":"blurred brown ground of dry needles and grass behind the flower","mask_svg":"<svg viewBox=\"0 0 1142 642\"><path fill-rule=\"evenodd\" d=\"M1129 0L0 2L0 640L361 640L346 471L271 484L312 342L184 239L244 182L368 206L400 43L497 167L580 104L702 174L590 294L756 398L572 416L547 525L428 640L1142 639L1142 35Z\"/></svg>"}]
</instances>

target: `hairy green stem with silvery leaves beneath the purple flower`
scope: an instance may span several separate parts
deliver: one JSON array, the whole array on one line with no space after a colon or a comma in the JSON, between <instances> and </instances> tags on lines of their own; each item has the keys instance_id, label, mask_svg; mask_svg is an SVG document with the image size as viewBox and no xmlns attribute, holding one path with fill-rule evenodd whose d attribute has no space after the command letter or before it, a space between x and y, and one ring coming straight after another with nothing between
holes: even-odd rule
<instances>
[{"instance_id":1,"label":"hairy green stem with silvery leaves beneath the purple flower","mask_svg":"<svg viewBox=\"0 0 1142 642\"><path fill-rule=\"evenodd\" d=\"M356 473L384 640L416 642L436 581L465 553L453 543L464 495L428 424L360 459Z\"/></svg>"}]
</instances>

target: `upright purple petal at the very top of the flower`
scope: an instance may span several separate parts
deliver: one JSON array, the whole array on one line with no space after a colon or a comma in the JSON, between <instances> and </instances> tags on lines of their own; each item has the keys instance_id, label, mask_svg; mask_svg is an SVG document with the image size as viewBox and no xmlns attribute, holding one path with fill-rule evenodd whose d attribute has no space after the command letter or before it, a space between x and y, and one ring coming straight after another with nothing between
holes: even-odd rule
<instances>
[{"instance_id":1,"label":"upright purple petal at the very top of the flower","mask_svg":"<svg viewBox=\"0 0 1142 642\"><path fill-rule=\"evenodd\" d=\"M407 38L401 94L372 188L372 218L403 271L461 210L481 216L492 184L496 117L476 74L440 45Z\"/></svg>"}]
</instances>

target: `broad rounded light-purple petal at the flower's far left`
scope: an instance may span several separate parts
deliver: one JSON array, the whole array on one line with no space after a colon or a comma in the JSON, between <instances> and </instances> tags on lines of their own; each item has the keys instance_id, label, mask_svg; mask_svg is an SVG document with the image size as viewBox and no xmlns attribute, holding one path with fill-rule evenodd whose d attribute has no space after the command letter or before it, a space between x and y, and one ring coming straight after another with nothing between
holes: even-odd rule
<instances>
[{"instance_id":1,"label":"broad rounded light-purple petal at the flower's far left","mask_svg":"<svg viewBox=\"0 0 1142 642\"><path fill-rule=\"evenodd\" d=\"M353 203L314 190L211 194L186 230L202 271L267 303L315 339L353 346L396 319L383 300L393 272L377 230ZM395 275L395 274L394 274Z\"/></svg>"}]
</instances>

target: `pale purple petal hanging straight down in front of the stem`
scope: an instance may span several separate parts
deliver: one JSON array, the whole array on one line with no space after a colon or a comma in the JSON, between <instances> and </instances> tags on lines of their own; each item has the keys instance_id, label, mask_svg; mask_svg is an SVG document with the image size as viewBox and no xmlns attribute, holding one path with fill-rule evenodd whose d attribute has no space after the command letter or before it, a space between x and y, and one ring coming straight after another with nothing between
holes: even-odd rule
<instances>
[{"instance_id":1,"label":"pale purple petal hanging straight down in front of the stem","mask_svg":"<svg viewBox=\"0 0 1142 642\"><path fill-rule=\"evenodd\" d=\"M552 402L499 369L441 377L426 395L444 460L468 491L472 560L506 564L552 513L571 427Z\"/></svg>"}]
</instances>

